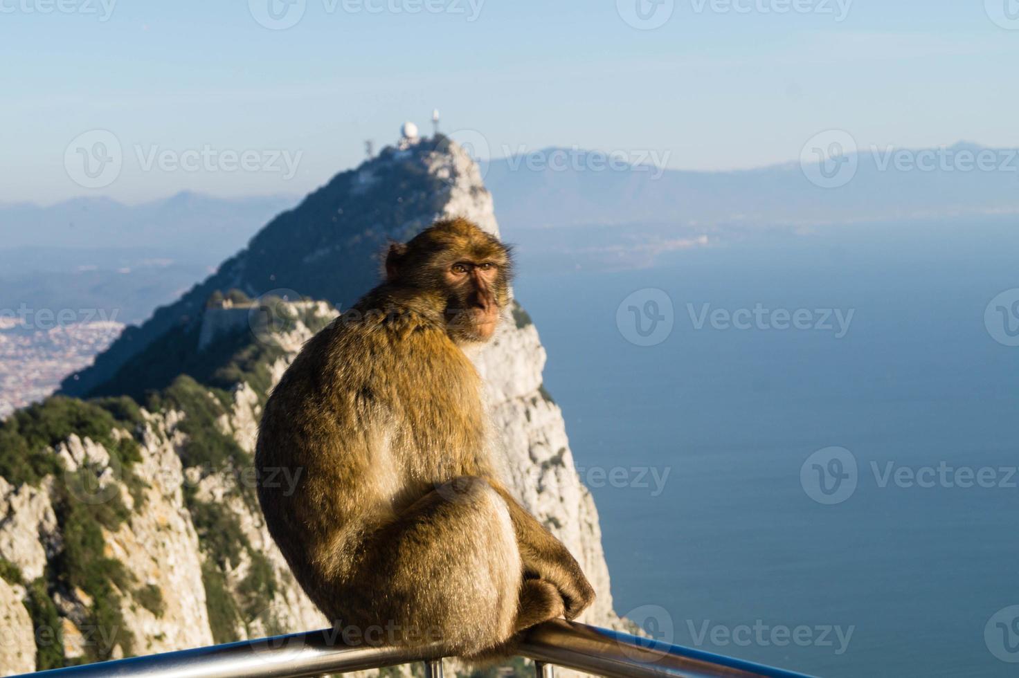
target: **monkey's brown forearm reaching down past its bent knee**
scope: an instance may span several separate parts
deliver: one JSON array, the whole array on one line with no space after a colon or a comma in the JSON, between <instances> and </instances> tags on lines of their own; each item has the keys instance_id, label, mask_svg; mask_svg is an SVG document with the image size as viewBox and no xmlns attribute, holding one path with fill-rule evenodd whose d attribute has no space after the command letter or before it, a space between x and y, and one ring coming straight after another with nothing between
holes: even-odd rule
<instances>
[{"instance_id":1,"label":"monkey's brown forearm reaching down past its bent knee","mask_svg":"<svg viewBox=\"0 0 1019 678\"><path fill-rule=\"evenodd\" d=\"M492 487L509 509L525 576L554 584L562 596L567 619L574 619L594 601L594 588L577 560L505 488L496 483Z\"/></svg>"}]
</instances>

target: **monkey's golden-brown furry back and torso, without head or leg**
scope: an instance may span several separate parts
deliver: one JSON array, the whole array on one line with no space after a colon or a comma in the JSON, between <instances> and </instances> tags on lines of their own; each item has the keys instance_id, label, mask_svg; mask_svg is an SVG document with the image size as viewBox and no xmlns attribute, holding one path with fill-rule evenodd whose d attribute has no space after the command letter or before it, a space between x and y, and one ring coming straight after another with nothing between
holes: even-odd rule
<instances>
[{"instance_id":1,"label":"monkey's golden-brown furry back and torso, without head or leg","mask_svg":"<svg viewBox=\"0 0 1019 678\"><path fill-rule=\"evenodd\" d=\"M474 365L434 322L397 310L337 319L266 403L259 501L309 594L356 570L359 547L398 511L489 467Z\"/></svg>"}]
</instances>

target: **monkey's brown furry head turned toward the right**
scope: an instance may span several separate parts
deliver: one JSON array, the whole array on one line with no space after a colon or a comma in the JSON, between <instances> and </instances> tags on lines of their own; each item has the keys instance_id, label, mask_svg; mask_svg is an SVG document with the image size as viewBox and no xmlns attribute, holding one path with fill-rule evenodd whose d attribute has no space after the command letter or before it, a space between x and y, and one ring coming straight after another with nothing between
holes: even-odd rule
<instances>
[{"instance_id":1,"label":"monkey's brown furry head turned toward the right","mask_svg":"<svg viewBox=\"0 0 1019 678\"><path fill-rule=\"evenodd\" d=\"M465 219L441 221L390 245L386 277L441 314L459 344L488 341L509 302L509 250Z\"/></svg>"}]
</instances>

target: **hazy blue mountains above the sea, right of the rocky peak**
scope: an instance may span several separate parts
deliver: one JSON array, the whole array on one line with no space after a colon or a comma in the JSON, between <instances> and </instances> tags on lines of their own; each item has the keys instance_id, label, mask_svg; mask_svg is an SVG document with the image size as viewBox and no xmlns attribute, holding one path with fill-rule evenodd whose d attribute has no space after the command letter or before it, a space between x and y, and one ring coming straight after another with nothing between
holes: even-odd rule
<instances>
[{"instance_id":1,"label":"hazy blue mountains above the sea, right of the rocky peak","mask_svg":"<svg viewBox=\"0 0 1019 678\"><path fill-rule=\"evenodd\" d=\"M647 268L677 250L791 229L1019 215L1019 152L972 144L862 150L829 163L834 182L819 163L732 172L613 169L605 154L562 148L481 167L523 270Z\"/></svg>"}]
</instances>

